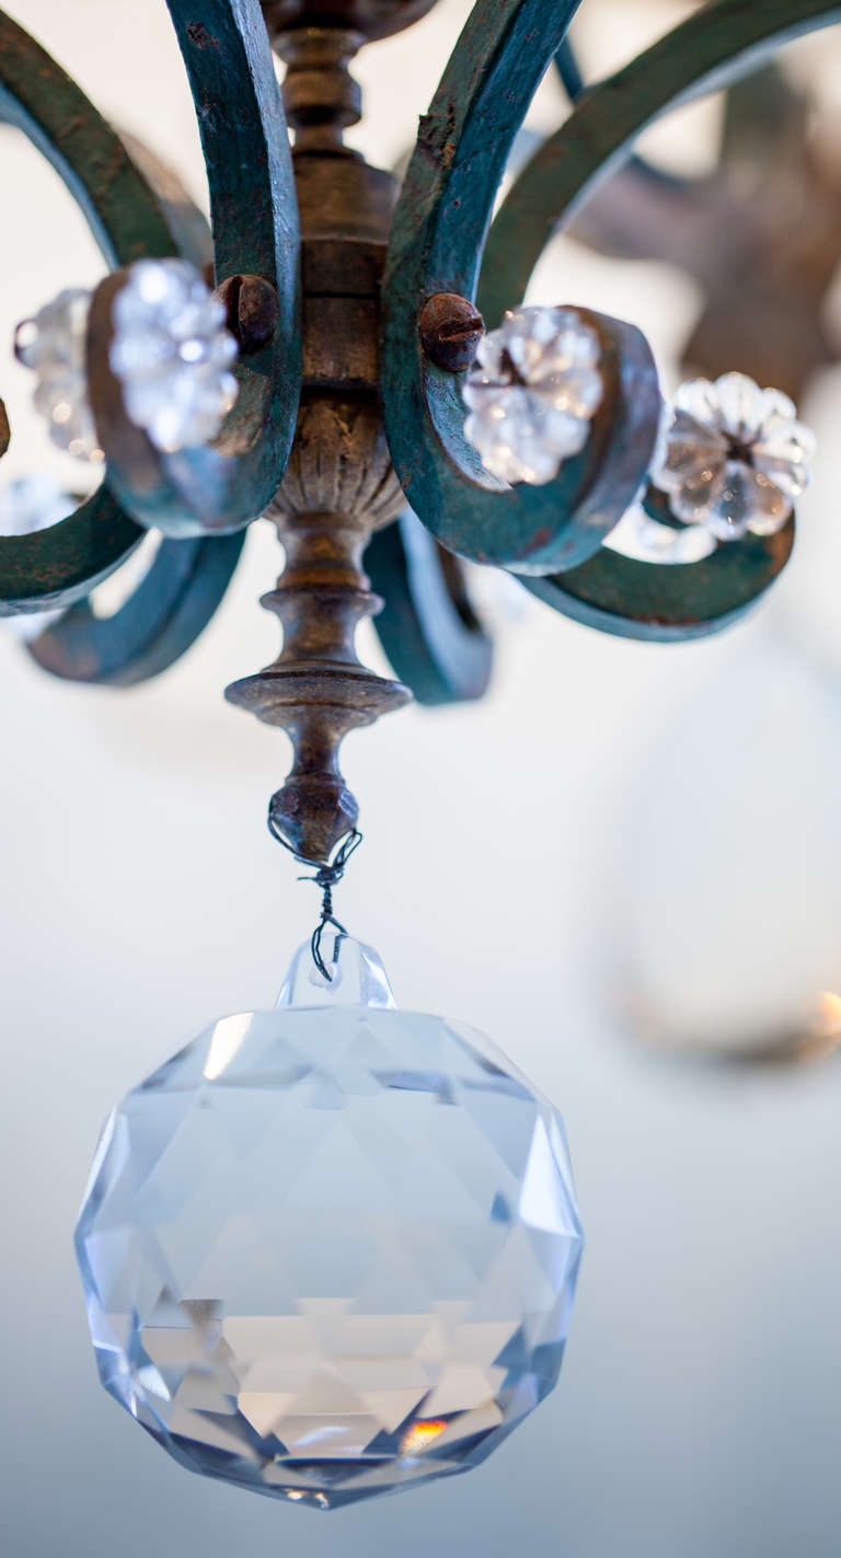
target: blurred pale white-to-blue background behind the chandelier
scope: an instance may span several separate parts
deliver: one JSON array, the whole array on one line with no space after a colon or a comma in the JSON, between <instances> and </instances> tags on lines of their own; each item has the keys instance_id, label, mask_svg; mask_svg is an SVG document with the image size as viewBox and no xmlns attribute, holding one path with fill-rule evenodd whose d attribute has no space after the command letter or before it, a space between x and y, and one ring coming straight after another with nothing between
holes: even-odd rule
<instances>
[{"instance_id":1,"label":"blurred pale white-to-blue background behind the chandelier","mask_svg":"<svg viewBox=\"0 0 841 1558\"><path fill-rule=\"evenodd\" d=\"M164 0L8 9L206 204ZM587 0L586 75L690 9ZM441 0L358 59L366 122L352 139L372 162L411 145L467 12ZM89 1348L72 1228L101 1119L209 1019L269 1005L313 922L313 888L263 826L285 738L221 696L276 653L277 625L255 605L279 572L274 533L252 527L209 631L137 690L51 681L0 631L0 1527L14 1558L259 1558L287 1544L302 1558L838 1552L841 288L833 266L816 279L811 251L786 245L819 224L824 252L841 232L839 64L836 31L780 56L807 95L802 156L735 157L737 193L762 196L769 227L730 257L713 327L701 329L710 299L674 246L593 252L625 241L609 190L589 245L554 240L530 293L635 321L674 388L687 343L715 357L724 337L732 358L698 365L751 371L732 313L721 330L721 299L771 288L765 344L797 372L819 436L779 586L720 639L653 647L480 576L498 645L491 695L392 715L344 751L366 841L341 918L378 947L402 1005L484 1028L559 1105L589 1235L561 1385L469 1477L327 1517L248 1497L187 1475L139 1433L101 1393ZM752 112L774 136L771 100ZM565 114L548 79L530 126L548 132ZM724 122L723 98L695 103L642 150L715 179ZM11 341L19 319L103 266L55 174L9 129L0 168ZM709 227L715 256L729 235L715 199ZM667 241L670 223L654 231ZM813 351L791 344L810 329L793 318L819 323ZM0 393L14 435L0 488L33 471L78 485L11 352ZM382 664L372 629L364 648Z\"/></svg>"}]
</instances>

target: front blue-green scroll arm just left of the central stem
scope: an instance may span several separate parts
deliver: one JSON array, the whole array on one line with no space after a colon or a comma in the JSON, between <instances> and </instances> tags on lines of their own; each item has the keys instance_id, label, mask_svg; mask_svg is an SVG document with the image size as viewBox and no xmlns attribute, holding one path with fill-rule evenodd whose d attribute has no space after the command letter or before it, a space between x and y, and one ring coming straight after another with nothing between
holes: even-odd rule
<instances>
[{"instance_id":1,"label":"front blue-green scroll arm just left of the central stem","mask_svg":"<svg viewBox=\"0 0 841 1558\"><path fill-rule=\"evenodd\" d=\"M201 20L192 0L167 3L207 164L216 279L263 276L277 290L279 319L271 343L238 363L238 400L212 447L165 455L143 439L137 480L140 472L120 439L106 438L104 444L109 483L140 523L160 527L168 536L218 534L263 513L294 436L301 393L297 203L259 0L204 0Z\"/></svg>"}]
</instances>

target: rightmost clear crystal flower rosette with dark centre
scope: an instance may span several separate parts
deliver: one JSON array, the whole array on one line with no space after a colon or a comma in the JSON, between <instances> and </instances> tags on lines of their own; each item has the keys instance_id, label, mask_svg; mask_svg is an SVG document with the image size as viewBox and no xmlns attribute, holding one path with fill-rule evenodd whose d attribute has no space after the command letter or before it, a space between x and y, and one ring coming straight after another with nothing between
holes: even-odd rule
<instances>
[{"instance_id":1,"label":"rightmost clear crystal flower rosette with dark centre","mask_svg":"<svg viewBox=\"0 0 841 1558\"><path fill-rule=\"evenodd\" d=\"M716 541L772 536L791 517L815 455L815 435L779 390L744 374L681 385L651 480L676 519Z\"/></svg>"}]
</instances>

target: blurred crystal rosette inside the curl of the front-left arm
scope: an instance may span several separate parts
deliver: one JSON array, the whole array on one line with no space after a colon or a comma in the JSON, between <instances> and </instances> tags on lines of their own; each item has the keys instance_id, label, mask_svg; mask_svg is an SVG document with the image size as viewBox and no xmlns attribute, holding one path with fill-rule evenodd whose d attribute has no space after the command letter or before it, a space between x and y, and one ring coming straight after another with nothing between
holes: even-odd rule
<instances>
[{"instance_id":1,"label":"blurred crystal rosette inside the curl of the front-left arm","mask_svg":"<svg viewBox=\"0 0 841 1558\"><path fill-rule=\"evenodd\" d=\"M126 414L170 453L215 438L237 399L224 304L187 260L137 260L114 302Z\"/></svg>"}]
</instances>

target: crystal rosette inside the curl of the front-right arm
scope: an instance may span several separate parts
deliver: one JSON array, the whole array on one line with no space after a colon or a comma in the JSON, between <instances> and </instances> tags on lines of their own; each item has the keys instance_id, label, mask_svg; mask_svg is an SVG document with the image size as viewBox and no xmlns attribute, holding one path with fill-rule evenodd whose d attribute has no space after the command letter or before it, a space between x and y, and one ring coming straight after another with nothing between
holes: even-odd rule
<instances>
[{"instance_id":1,"label":"crystal rosette inside the curl of the front-right arm","mask_svg":"<svg viewBox=\"0 0 841 1558\"><path fill-rule=\"evenodd\" d=\"M503 481L542 486L590 436L604 385L598 335L575 308L514 308L464 380L464 436Z\"/></svg>"}]
</instances>

